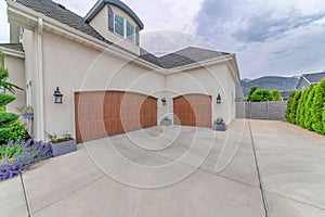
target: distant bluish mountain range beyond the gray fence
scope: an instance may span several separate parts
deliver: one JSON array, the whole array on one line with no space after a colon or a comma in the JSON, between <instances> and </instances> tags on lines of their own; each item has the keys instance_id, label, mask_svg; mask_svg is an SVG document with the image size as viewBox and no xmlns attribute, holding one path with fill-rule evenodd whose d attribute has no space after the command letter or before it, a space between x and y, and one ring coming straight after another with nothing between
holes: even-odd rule
<instances>
[{"instance_id":1,"label":"distant bluish mountain range beyond the gray fence","mask_svg":"<svg viewBox=\"0 0 325 217\"><path fill-rule=\"evenodd\" d=\"M252 86L258 86L260 89L268 89L270 91L277 89L278 91L288 91L295 89L299 77L281 77L281 76L264 76L257 79L243 79L240 87L245 97Z\"/></svg>"}]
</instances>

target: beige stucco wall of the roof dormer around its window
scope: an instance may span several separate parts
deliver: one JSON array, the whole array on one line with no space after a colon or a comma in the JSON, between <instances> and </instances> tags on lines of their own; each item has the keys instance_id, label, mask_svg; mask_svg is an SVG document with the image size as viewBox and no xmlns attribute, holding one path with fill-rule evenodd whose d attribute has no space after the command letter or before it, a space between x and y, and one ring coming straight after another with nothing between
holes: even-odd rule
<instances>
[{"instance_id":1,"label":"beige stucco wall of the roof dormer around its window","mask_svg":"<svg viewBox=\"0 0 325 217\"><path fill-rule=\"evenodd\" d=\"M115 5L110 5L115 14L128 20L133 26L136 26L135 22L122 10ZM107 40L116 43L117 46L127 49L135 54L140 54L140 48L123 37L113 34L108 30L108 8L105 5L89 23L94 29L96 29Z\"/></svg>"}]
</instances>

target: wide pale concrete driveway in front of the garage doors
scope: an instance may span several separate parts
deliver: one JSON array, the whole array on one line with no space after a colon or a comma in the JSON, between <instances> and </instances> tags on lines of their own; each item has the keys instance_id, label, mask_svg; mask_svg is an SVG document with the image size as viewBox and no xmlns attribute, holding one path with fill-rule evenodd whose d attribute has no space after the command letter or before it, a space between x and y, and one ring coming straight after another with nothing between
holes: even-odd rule
<instances>
[{"instance_id":1,"label":"wide pale concrete driveway in front of the garage doors","mask_svg":"<svg viewBox=\"0 0 325 217\"><path fill-rule=\"evenodd\" d=\"M155 127L0 182L0 216L325 216L325 138L283 122Z\"/></svg>"}]
</instances>

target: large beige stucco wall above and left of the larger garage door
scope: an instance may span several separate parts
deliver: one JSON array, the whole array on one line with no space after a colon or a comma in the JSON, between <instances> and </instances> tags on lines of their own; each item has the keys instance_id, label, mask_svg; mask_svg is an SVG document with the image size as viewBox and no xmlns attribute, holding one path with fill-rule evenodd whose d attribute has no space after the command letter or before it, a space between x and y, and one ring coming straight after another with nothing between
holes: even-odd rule
<instances>
[{"instance_id":1,"label":"large beige stucco wall above and left of the larger garage door","mask_svg":"<svg viewBox=\"0 0 325 217\"><path fill-rule=\"evenodd\" d=\"M75 91L127 90L160 97L162 74L128 63L63 37L43 33L44 130L75 135ZM54 104L60 87L63 104Z\"/></svg>"}]
</instances>

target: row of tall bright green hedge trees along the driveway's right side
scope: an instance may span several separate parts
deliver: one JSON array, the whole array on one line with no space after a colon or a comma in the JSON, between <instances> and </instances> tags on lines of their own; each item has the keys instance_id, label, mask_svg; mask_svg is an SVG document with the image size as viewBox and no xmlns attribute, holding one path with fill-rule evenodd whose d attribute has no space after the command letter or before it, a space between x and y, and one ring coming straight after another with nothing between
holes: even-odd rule
<instances>
[{"instance_id":1,"label":"row of tall bright green hedge trees along the driveway's right side","mask_svg":"<svg viewBox=\"0 0 325 217\"><path fill-rule=\"evenodd\" d=\"M325 79L303 92L290 92L285 117L289 123L325 135Z\"/></svg>"}]
</instances>

